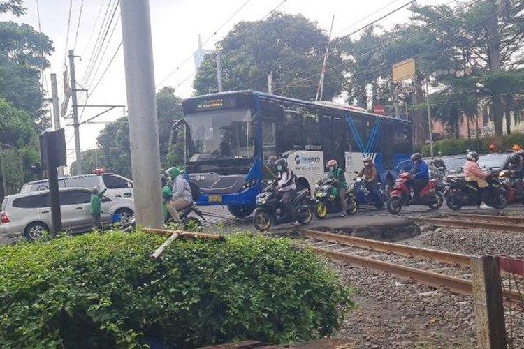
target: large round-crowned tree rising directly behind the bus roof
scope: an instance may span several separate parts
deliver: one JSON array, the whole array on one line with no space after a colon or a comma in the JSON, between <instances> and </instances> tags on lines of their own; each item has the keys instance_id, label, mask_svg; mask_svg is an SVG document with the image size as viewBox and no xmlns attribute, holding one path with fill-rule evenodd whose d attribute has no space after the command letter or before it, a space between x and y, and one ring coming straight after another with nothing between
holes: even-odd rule
<instances>
[{"instance_id":1,"label":"large round-crowned tree rising directly behind the bus roof","mask_svg":"<svg viewBox=\"0 0 524 349\"><path fill-rule=\"evenodd\" d=\"M275 13L267 20L240 22L219 43L225 91L267 91L272 73L275 94L311 101L326 50L328 36L303 15ZM330 51L324 83L324 98L340 93L344 76L342 58L336 47ZM217 91L215 55L205 57L194 81L196 94Z\"/></svg>"}]
</instances>

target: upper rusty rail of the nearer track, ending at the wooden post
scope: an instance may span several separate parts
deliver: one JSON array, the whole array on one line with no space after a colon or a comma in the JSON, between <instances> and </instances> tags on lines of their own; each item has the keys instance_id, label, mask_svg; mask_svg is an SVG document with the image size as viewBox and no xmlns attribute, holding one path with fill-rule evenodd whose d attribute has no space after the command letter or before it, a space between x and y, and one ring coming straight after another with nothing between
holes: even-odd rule
<instances>
[{"instance_id":1,"label":"upper rusty rail of the nearer track, ending at the wooden post","mask_svg":"<svg viewBox=\"0 0 524 349\"><path fill-rule=\"evenodd\" d=\"M377 240L363 239L361 237L351 237L348 235L333 234L330 232L319 232L316 230L303 230L303 236L309 239L318 239L325 242L335 242L347 246L358 246L372 251L386 253L396 253L407 256L430 258L445 263L470 266L470 256L460 253L432 250L414 246L392 244L391 242L380 242Z\"/></svg>"}]
</instances>

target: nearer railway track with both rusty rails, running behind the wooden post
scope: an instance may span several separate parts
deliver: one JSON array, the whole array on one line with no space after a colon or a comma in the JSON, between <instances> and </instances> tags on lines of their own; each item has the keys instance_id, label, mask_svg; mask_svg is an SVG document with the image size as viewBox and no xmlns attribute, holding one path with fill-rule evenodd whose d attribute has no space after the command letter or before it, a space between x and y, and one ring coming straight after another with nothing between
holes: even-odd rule
<instances>
[{"instance_id":1,"label":"nearer railway track with both rusty rails, running behind the wooden post","mask_svg":"<svg viewBox=\"0 0 524 349\"><path fill-rule=\"evenodd\" d=\"M458 253L378 242L316 230L303 230L303 237L315 253L331 260L348 262L433 288L470 295L470 257ZM504 297L521 301L521 295L504 290Z\"/></svg>"}]
</instances>

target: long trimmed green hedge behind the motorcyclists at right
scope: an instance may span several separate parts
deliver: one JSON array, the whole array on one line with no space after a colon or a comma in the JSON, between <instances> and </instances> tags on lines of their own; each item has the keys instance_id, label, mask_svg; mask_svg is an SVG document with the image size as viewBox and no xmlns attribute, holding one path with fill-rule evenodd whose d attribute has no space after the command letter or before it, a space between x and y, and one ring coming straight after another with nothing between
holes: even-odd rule
<instances>
[{"instance_id":1,"label":"long trimmed green hedge behind the motorcyclists at right","mask_svg":"<svg viewBox=\"0 0 524 349\"><path fill-rule=\"evenodd\" d=\"M490 136L481 138L478 141L475 138L472 138L471 141L462 138L459 140L439 140L433 143L433 153L435 155L439 153L442 155L456 155L465 154L470 149L486 154L490 144L495 144L497 151L501 152L511 149L514 144L524 148L524 133L515 132L502 137ZM422 147L422 153L424 156L430 156L430 146L428 144Z\"/></svg>"}]
</instances>

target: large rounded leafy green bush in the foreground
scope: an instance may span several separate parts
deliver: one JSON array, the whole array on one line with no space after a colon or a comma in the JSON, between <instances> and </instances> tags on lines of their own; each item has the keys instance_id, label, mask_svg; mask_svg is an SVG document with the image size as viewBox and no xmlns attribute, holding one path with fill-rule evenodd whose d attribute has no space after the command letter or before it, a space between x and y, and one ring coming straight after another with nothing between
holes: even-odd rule
<instances>
[{"instance_id":1,"label":"large rounded leafy green bush in the foreground","mask_svg":"<svg viewBox=\"0 0 524 349\"><path fill-rule=\"evenodd\" d=\"M307 341L333 332L349 290L288 239L225 242L142 232L0 248L0 343L8 348L191 348L242 339Z\"/></svg>"}]
</instances>

